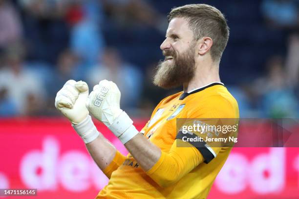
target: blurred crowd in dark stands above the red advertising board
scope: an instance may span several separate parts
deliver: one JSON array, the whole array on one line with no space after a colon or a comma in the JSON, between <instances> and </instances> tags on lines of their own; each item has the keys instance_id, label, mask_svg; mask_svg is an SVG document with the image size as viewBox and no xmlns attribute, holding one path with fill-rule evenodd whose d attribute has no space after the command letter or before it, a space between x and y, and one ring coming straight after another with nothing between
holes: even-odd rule
<instances>
[{"instance_id":1,"label":"blurred crowd in dark stands above the red advertising board","mask_svg":"<svg viewBox=\"0 0 299 199\"><path fill-rule=\"evenodd\" d=\"M198 3L184 4L192 2ZM149 117L164 96L181 90L151 83L163 59L159 46L167 12L181 4L0 0L0 117L58 115L55 96L69 79L85 80L90 90L99 80L112 80L122 93L121 107L132 117ZM220 76L238 101L240 116L298 117L297 1L218 0L213 5L231 28Z\"/></svg>"}]
</instances>

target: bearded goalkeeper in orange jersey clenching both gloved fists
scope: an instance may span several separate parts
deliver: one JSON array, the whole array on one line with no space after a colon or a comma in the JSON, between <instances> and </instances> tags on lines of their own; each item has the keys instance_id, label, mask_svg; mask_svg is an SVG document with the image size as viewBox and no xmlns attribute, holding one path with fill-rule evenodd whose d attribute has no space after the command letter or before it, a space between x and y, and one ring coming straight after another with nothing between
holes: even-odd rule
<instances>
[{"instance_id":1,"label":"bearded goalkeeper in orange jersey clenching both gloved fists","mask_svg":"<svg viewBox=\"0 0 299 199\"><path fill-rule=\"evenodd\" d=\"M140 132L120 108L120 91L111 81L100 81L88 95L85 82L69 80L57 93L55 106L70 119L109 178L97 199L207 198L231 151L212 146L213 142L195 143L192 140L202 132L177 128L177 119L183 118L201 124L209 123L205 119L239 118L237 102L219 78L219 62L229 38L227 22L219 10L206 4L173 8L168 18L160 46L165 60L158 65L154 84L166 89L182 85L183 91L161 100ZM122 141L128 156L105 139L89 113Z\"/></svg>"}]
</instances>

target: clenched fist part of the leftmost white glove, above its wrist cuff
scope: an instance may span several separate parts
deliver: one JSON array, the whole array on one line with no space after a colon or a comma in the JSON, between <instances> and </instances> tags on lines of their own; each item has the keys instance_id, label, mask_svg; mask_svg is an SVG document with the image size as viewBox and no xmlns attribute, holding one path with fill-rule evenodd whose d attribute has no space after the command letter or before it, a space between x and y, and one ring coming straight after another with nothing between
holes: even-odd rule
<instances>
[{"instance_id":1,"label":"clenched fist part of the leftmost white glove, above its wrist cuff","mask_svg":"<svg viewBox=\"0 0 299 199\"><path fill-rule=\"evenodd\" d=\"M56 95L55 107L73 124L78 124L88 116L88 109L85 107L87 98L86 82L68 80Z\"/></svg>"}]
</instances>

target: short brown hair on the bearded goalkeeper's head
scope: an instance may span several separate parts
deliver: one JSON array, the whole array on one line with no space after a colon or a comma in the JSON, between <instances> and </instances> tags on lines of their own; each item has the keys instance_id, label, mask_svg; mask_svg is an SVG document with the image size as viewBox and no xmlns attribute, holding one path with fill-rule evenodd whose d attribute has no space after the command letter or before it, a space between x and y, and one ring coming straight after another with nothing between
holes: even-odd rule
<instances>
[{"instance_id":1,"label":"short brown hair on the bearded goalkeeper's head","mask_svg":"<svg viewBox=\"0 0 299 199\"><path fill-rule=\"evenodd\" d=\"M193 31L193 39L210 37L213 40L211 57L220 61L230 35L230 29L224 15L215 7L207 4L189 4L174 7L168 15L168 22L173 18L185 18Z\"/></svg>"}]
</instances>

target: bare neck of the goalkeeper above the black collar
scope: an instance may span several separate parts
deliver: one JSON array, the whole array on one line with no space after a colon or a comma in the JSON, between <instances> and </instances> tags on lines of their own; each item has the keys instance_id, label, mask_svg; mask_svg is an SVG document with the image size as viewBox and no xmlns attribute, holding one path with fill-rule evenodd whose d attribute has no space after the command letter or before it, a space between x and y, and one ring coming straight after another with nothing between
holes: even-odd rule
<instances>
[{"instance_id":1,"label":"bare neck of the goalkeeper above the black collar","mask_svg":"<svg viewBox=\"0 0 299 199\"><path fill-rule=\"evenodd\" d=\"M213 82L220 82L219 63L200 63L195 65L195 67L195 74L192 80L183 84L184 92L189 92Z\"/></svg>"}]
</instances>

